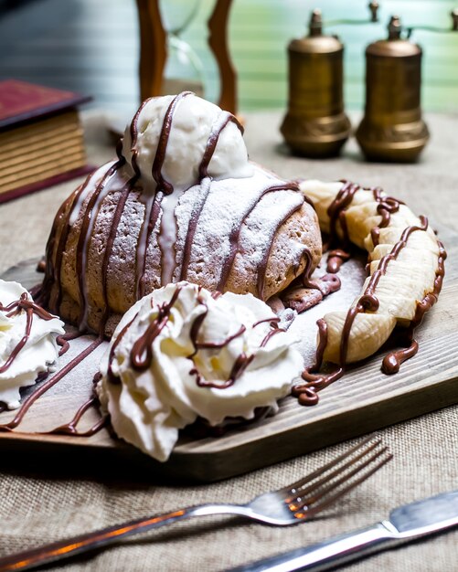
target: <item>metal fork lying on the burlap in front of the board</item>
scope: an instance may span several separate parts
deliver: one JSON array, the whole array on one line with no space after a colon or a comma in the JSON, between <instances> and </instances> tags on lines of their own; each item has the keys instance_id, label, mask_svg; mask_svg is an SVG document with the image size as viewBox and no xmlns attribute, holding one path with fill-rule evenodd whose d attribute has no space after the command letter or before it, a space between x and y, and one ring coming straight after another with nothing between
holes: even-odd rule
<instances>
[{"instance_id":1,"label":"metal fork lying on the burlap in front of the board","mask_svg":"<svg viewBox=\"0 0 458 572\"><path fill-rule=\"evenodd\" d=\"M172 513L141 518L124 524L74 536L47 546L32 548L0 558L0 572L27 570L54 560L116 543L165 524L176 523L190 516L238 514L252 520L277 526L303 523L335 503L360 482L378 471L392 455L381 440L370 437L325 466L278 491L263 493L246 504L201 504L178 509Z\"/></svg>"}]
</instances>

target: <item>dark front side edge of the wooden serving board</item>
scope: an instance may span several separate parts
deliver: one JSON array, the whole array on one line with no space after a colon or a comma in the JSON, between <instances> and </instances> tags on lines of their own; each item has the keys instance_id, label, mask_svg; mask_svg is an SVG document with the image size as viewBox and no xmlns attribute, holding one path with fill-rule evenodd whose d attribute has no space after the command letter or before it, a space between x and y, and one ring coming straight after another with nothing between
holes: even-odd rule
<instances>
[{"instance_id":1,"label":"dark front side edge of the wooden serving board","mask_svg":"<svg viewBox=\"0 0 458 572\"><path fill-rule=\"evenodd\" d=\"M409 394L367 404L364 418L361 418L358 409L341 412L329 420L325 430L322 420L317 419L303 427L267 435L262 441L245 442L227 450L197 453L176 451L165 463L155 461L122 441L113 441L110 446L69 448L65 439L51 442L40 439L39 435L31 435L31 440L21 440L17 435L5 433L1 436L2 450L5 466L8 459L13 463L20 459L23 466L36 470L38 460L45 474L52 471L55 460L59 460L60 463L65 462L69 474L79 471L81 464L84 464L91 466L91 471L96 473L122 476L127 472L130 478L141 478L148 482L204 484L300 457L456 403L458 378L441 379ZM389 445L389 442L385 444Z\"/></svg>"}]
</instances>

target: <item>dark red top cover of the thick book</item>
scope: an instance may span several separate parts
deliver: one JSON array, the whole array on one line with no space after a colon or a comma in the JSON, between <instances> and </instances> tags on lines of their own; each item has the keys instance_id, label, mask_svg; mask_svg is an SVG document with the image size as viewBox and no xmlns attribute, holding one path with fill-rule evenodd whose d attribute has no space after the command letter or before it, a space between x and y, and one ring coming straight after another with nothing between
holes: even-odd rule
<instances>
[{"instance_id":1,"label":"dark red top cover of the thick book","mask_svg":"<svg viewBox=\"0 0 458 572\"><path fill-rule=\"evenodd\" d=\"M45 88L18 79L0 81L0 131L91 101L72 91Z\"/></svg>"}]
</instances>

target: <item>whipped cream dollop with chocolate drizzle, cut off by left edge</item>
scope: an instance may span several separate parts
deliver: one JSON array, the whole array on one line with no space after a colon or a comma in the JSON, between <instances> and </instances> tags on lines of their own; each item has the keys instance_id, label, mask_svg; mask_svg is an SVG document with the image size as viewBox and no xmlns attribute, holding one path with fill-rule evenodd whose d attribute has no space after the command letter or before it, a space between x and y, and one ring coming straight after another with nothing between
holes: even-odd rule
<instances>
[{"instance_id":1,"label":"whipped cream dollop with chocolate drizzle, cut off by left edge","mask_svg":"<svg viewBox=\"0 0 458 572\"><path fill-rule=\"evenodd\" d=\"M21 284L0 280L0 402L7 408L18 408L19 388L32 386L55 364L63 326Z\"/></svg>"}]
</instances>

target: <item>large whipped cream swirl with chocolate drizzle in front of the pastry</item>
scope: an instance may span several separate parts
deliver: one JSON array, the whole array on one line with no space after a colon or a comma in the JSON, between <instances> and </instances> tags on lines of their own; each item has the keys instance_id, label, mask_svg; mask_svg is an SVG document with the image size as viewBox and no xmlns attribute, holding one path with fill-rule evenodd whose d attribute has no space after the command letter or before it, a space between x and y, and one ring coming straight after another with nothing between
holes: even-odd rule
<instances>
[{"instance_id":1,"label":"large whipped cream swirl with chocolate drizzle in front of the pastry","mask_svg":"<svg viewBox=\"0 0 458 572\"><path fill-rule=\"evenodd\" d=\"M286 396L304 363L292 336L251 294L187 282L153 291L125 313L102 358L98 394L119 437L166 461L178 429L254 418Z\"/></svg>"}]
</instances>

